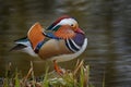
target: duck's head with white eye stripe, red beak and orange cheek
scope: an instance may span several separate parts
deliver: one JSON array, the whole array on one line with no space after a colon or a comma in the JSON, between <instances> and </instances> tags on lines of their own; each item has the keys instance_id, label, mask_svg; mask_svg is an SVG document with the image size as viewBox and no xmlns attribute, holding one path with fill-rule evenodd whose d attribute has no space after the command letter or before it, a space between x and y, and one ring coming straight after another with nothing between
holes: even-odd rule
<instances>
[{"instance_id":1,"label":"duck's head with white eye stripe, red beak and orange cheek","mask_svg":"<svg viewBox=\"0 0 131 87\"><path fill-rule=\"evenodd\" d=\"M79 27L76 20L68 15L59 17L47 29L53 30L55 35L60 38L71 38L75 36L76 33L84 34L84 32Z\"/></svg>"}]
</instances>

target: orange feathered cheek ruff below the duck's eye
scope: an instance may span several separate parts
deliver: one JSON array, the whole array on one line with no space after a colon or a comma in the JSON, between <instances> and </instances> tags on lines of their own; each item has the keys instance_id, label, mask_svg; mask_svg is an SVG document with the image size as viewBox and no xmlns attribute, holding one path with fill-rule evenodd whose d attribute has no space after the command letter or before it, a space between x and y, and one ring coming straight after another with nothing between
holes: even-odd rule
<instances>
[{"instance_id":1,"label":"orange feathered cheek ruff below the duck's eye","mask_svg":"<svg viewBox=\"0 0 131 87\"><path fill-rule=\"evenodd\" d=\"M75 33L70 26L63 25L57 32L55 32L55 36L62 39L68 39L74 37Z\"/></svg>"}]
</instances>

